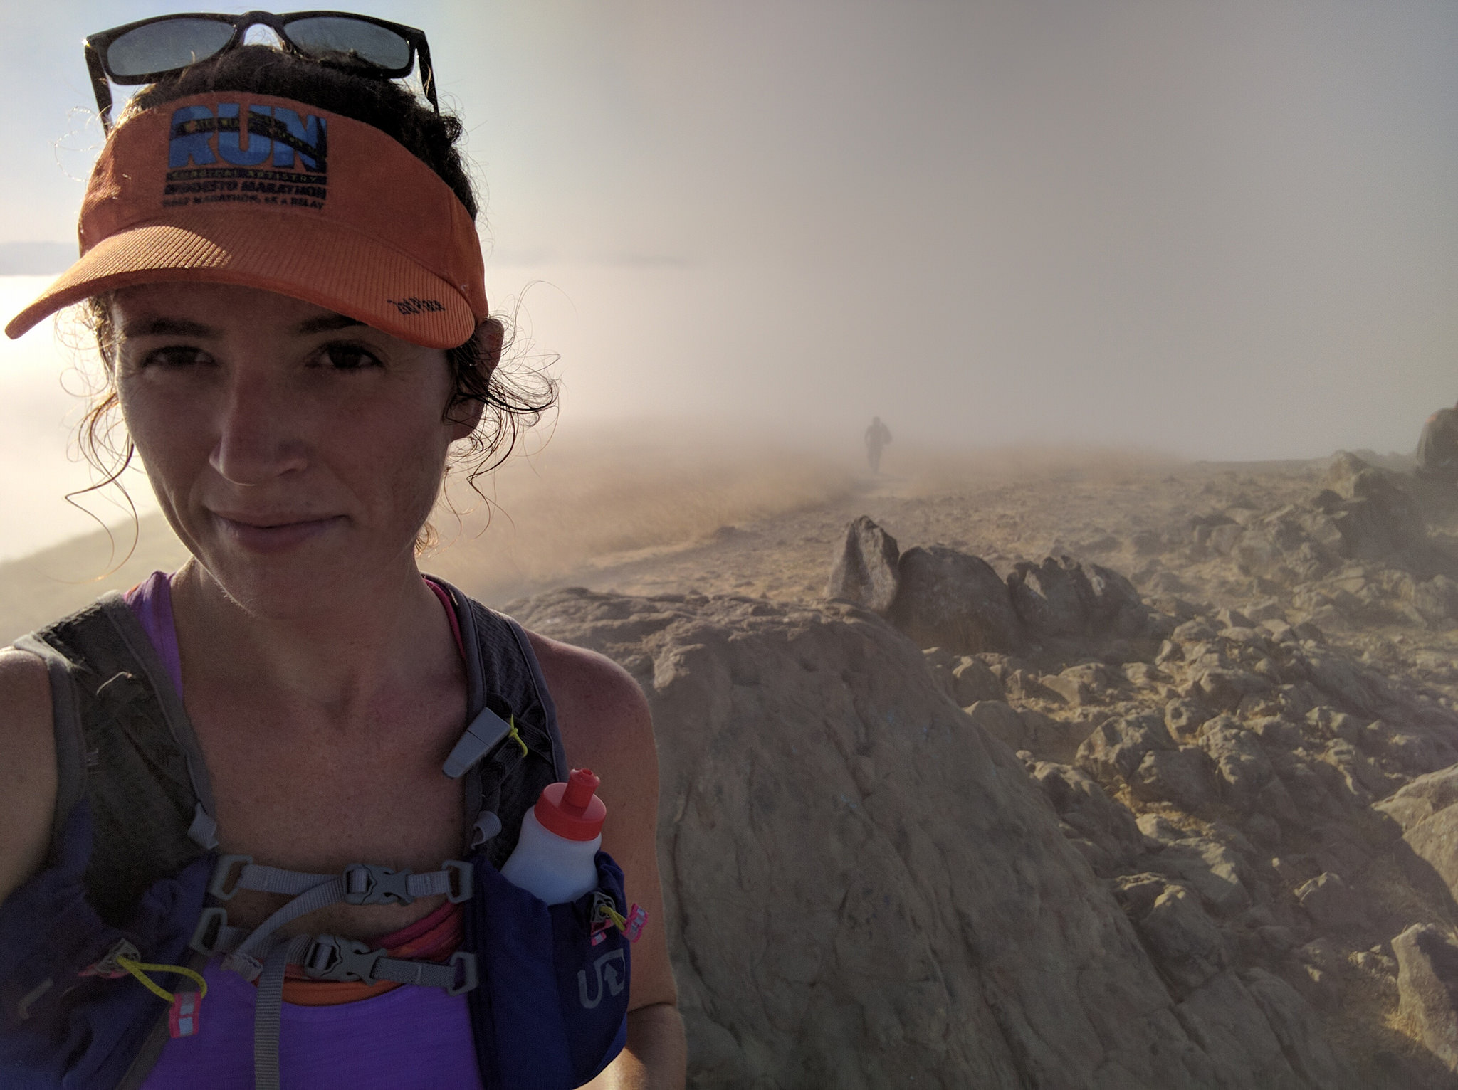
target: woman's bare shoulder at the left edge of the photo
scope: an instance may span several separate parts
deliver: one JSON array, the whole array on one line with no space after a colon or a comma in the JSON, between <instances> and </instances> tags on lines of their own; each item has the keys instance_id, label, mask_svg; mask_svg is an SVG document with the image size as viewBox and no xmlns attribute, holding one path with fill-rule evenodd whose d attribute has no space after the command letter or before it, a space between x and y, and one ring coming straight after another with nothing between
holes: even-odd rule
<instances>
[{"instance_id":1,"label":"woman's bare shoulder at the left edge of the photo","mask_svg":"<svg viewBox=\"0 0 1458 1090\"><path fill-rule=\"evenodd\" d=\"M45 663L0 648L0 901L39 870L55 807L55 732Z\"/></svg>"}]
</instances>

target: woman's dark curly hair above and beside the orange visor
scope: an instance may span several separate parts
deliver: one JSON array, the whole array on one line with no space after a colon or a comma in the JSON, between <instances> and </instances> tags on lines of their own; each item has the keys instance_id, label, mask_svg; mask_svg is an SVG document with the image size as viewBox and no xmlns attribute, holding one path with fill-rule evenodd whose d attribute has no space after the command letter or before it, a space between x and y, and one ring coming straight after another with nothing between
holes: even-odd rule
<instances>
[{"instance_id":1,"label":"woman's dark curly hair above and beside the orange visor","mask_svg":"<svg viewBox=\"0 0 1458 1090\"><path fill-rule=\"evenodd\" d=\"M360 73L347 57L305 60L267 45L243 45L143 87L118 118L118 125L144 109L214 90L276 95L373 125L434 170L472 219L478 213L467 160L456 147L465 131L461 119L437 114L399 80ZM114 436L118 398L112 366L117 331L111 294L86 300L82 319L95 335L106 369L106 382L92 399L79 434L82 455L105 475L99 484L83 490L92 491L115 482L136 452L130 437L122 436L117 442ZM467 449L453 455L478 495L477 478L500 465L515 449L521 433L557 404L557 382L544 370L516 360L503 372L503 354L510 356L510 329L502 318L486 321L494 337L487 331L486 337L472 337L446 350L452 393L442 414L451 418L462 407L483 407L481 423L467 440ZM420 545L433 541L434 530L427 523Z\"/></svg>"}]
</instances>

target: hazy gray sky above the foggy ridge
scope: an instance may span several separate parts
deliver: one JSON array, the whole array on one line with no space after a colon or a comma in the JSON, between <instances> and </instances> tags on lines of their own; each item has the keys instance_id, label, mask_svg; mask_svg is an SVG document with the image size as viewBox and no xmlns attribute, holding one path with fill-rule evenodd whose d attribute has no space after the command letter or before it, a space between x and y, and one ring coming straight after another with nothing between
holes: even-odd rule
<instances>
[{"instance_id":1,"label":"hazy gray sky above the foggy ridge","mask_svg":"<svg viewBox=\"0 0 1458 1090\"><path fill-rule=\"evenodd\" d=\"M7 4L0 242L73 236L82 36L195 7ZM563 427L1321 456L1458 399L1451 0L357 10L430 36Z\"/></svg>"}]
</instances>

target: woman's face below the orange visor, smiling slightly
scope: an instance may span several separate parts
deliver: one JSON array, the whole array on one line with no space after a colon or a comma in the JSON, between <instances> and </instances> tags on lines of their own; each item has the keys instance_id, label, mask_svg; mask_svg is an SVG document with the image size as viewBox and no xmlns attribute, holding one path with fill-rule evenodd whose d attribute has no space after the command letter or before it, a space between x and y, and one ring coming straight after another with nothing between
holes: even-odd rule
<instances>
[{"instance_id":1,"label":"woman's face below the orange visor, smiling slightly","mask_svg":"<svg viewBox=\"0 0 1458 1090\"><path fill-rule=\"evenodd\" d=\"M283 616L414 567L446 452L445 353L289 296L115 296L121 409L172 529L245 608Z\"/></svg>"}]
</instances>

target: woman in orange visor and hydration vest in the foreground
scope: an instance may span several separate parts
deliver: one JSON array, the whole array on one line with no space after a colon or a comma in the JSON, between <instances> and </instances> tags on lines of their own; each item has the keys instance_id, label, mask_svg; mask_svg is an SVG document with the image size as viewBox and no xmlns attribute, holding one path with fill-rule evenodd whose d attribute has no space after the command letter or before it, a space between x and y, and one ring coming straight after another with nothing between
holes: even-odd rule
<instances>
[{"instance_id":1,"label":"woman in orange visor and hydration vest in the foreground","mask_svg":"<svg viewBox=\"0 0 1458 1090\"><path fill-rule=\"evenodd\" d=\"M642 692L416 567L512 404L417 57L433 105L424 36L346 13L87 39L104 117L155 82L7 332L86 303L192 558L0 651L7 1087L682 1084ZM569 761L607 855L548 909L497 867Z\"/></svg>"}]
</instances>

